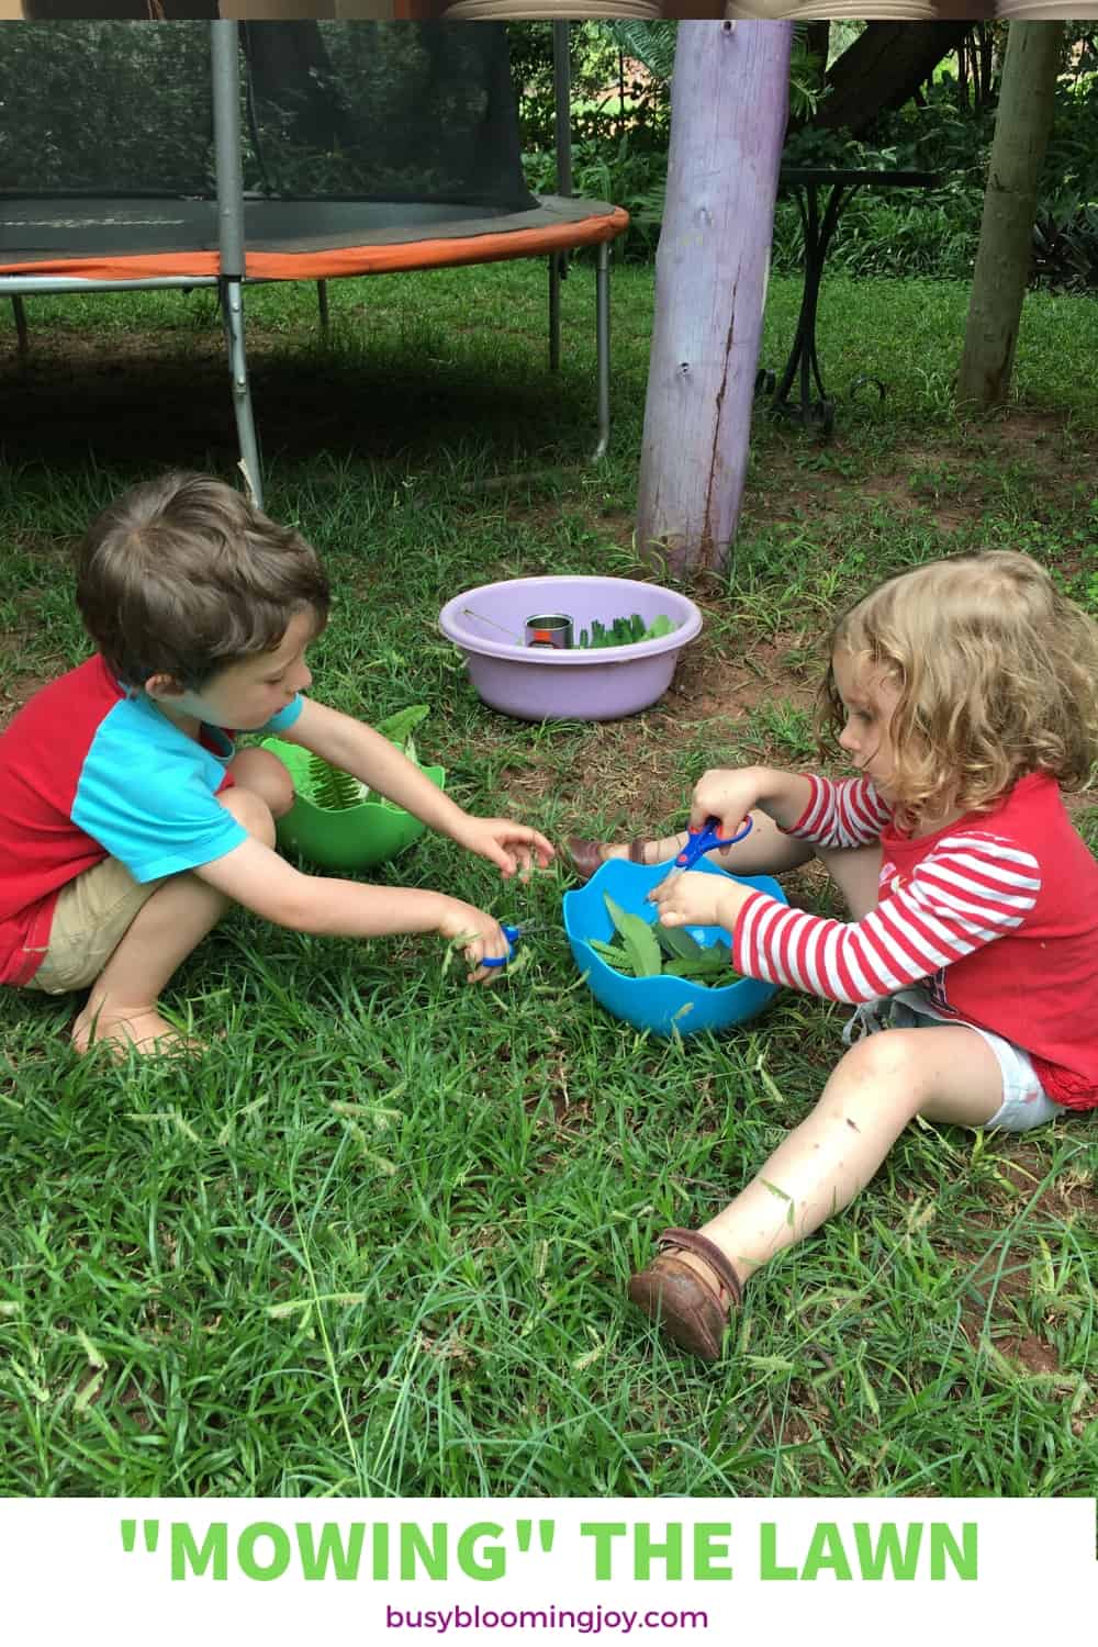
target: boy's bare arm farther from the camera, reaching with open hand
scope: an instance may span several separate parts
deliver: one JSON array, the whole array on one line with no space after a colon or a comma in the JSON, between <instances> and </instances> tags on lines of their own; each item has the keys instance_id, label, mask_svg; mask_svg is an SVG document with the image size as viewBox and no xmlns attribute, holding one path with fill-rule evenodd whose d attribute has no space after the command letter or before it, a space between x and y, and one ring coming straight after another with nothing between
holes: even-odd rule
<instances>
[{"instance_id":1,"label":"boy's bare arm farther from the camera, reaching with open hand","mask_svg":"<svg viewBox=\"0 0 1098 1647\"><path fill-rule=\"evenodd\" d=\"M553 856L545 837L525 824L512 819L471 817L438 784L425 777L388 738L326 703L305 698L293 726L280 736L351 772L359 782L369 784L395 805L412 812L428 828L449 835L469 851L489 858L504 875L528 865L532 853L542 865Z\"/></svg>"}]
</instances>

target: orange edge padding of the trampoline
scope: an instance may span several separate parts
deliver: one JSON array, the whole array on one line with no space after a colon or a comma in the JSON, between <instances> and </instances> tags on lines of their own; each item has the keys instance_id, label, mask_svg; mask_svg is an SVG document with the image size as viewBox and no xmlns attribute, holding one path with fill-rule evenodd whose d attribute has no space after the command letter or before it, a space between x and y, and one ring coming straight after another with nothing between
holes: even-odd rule
<instances>
[{"instance_id":1,"label":"orange edge padding of the trampoline","mask_svg":"<svg viewBox=\"0 0 1098 1647\"><path fill-rule=\"evenodd\" d=\"M102 201L99 204L109 209L112 203ZM309 203L303 201L300 204L301 211L308 216ZM26 203L13 203L12 199L0 203L0 219L10 216L16 208L26 209ZM87 203L84 203L84 208L87 209ZM257 208L254 203L247 203L245 278L249 280L326 280L337 275L385 275L412 268L443 268L461 264L492 264L514 257L540 257L548 252L563 252L578 245L612 240L629 226L629 212L622 211L621 206L611 206L604 201L545 196L540 199L537 212L515 212L510 217L500 216L482 229L481 222L484 219L471 216L469 221L477 222L477 232L463 232L461 219L456 217L444 234L431 236L425 232L423 239L416 239L405 226L400 231L400 237L395 239L387 239L384 231L374 231L364 244L323 245L318 244L318 239L323 239L323 231L319 231L303 236L298 242L300 249L296 249L293 239L286 239L283 234L270 247L263 245L262 232L257 234L257 226L262 224L262 204ZM110 222L110 219L105 221ZM40 219L38 224L31 222L30 227L40 227L43 222L44 219ZM504 222L512 222L514 227L504 229ZM35 275L43 278L43 285L46 285L49 275L77 280L125 282L186 275L216 277L221 273L219 252L209 245L207 239L204 245L193 250L142 250L140 244L133 244L132 250L112 247L100 252L91 247L86 250L74 247L72 252L63 254L59 249L46 250L44 245L31 249L26 242L25 250L20 249L13 244L18 239L12 232L13 227L25 226L18 222L3 226L7 232L0 239L0 275ZM58 236L64 222L59 221L58 226L49 227ZM119 239L128 237L125 236L125 226L120 227L123 232ZM425 226L426 229L428 226ZM133 232L132 239L133 242L140 242L140 234ZM344 242L354 239L354 236L342 232L337 239Z\"/></svg>"}]
</instances>

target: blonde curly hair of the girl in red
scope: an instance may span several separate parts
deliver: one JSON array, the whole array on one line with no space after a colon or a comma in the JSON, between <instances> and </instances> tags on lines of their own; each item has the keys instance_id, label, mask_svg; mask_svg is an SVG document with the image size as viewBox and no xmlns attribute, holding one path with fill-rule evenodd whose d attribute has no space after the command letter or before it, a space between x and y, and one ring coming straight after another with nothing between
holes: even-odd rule
<instances>
[{"instance_id":1,"label":"blonde curly hair of the girl in red","mask_svg":"<svg viewBox=\"0 0 1098 1647\"><path fill-rule=\"evenodd\" d=\"M1082 789L1098 763L1098 624L1029 555L889 578L836 619L830 659L841 651L899 688L889 791L905 822L986 810L1027 772ZM828 662L817 728L844 720Z\"/></svg>"}]
</instances>

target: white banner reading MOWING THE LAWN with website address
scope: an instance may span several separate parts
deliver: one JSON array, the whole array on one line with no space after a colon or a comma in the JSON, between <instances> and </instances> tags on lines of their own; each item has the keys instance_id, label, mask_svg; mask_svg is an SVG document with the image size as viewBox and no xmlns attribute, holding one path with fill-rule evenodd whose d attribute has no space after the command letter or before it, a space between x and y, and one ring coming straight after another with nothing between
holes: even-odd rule
<instances>
[{"instance_id":1,"label":"white banner reading MOWING THE LAWN with website address","mask_svg":"<svg viewBox=\"0 0 1098 1647\"><path fill-rule=\"evenodd\" d=\"M1093 1631L1095 1500L8 1499L0 1596L81 1647L1034 1647Z\"/></svg>"}]
</instances>

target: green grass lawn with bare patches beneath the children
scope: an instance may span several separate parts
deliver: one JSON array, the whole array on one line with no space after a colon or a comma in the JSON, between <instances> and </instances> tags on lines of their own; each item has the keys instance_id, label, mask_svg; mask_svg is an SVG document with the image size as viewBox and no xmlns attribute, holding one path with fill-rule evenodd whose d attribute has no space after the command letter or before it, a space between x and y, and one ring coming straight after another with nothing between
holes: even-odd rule
<instances>
[{"instance_id":1,"label":"green grass lawn with bare patches beneath the children","mask_svg":"<svg viewBox=\"0 0 1098 1647\"><path fill-rule=\"evenodd\" d=\"M757 418L729 576L698 593L668 697L606 725L486 710L435 628L446 598L637 572L650 270L614 275L598 468L593 301L578 265L555 379L538 265L336 283L331 346L311 288L247 293L268 509L336 590L314 692L367 720L430 702L416 744L464 805L558 840L637 833L680 824L706 766L812 761L828 613L950 550L1029 548L1098 609L1098 305L1031 296L1016 402L960 422L966 290L835 278L835 440ZM764 364L797 301L772 282ZM94 509L168 464L235 463L209 295L28 310L26 371L13 328L0 361L5 716L86 654L66 553ZM884 404L846 397L861 374ZM1077 820L1098 850L1098 812ZM570 884L502 886L440 838L379 878L550 926ZM629 1311L626 1278L805 1115L843 1010L784 993L739 1033L649 1043L593 1003L563 937L528 947L471 990L436 940L232 916L166 1001L211 1038L189 1064L76 1061L71 1001L0 991L0 1492L1093 1492L1093 1120L914 1128L752 1283L706 1369Z\"/></svg>"}]
</instances>

